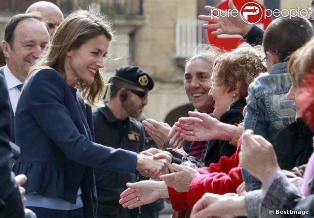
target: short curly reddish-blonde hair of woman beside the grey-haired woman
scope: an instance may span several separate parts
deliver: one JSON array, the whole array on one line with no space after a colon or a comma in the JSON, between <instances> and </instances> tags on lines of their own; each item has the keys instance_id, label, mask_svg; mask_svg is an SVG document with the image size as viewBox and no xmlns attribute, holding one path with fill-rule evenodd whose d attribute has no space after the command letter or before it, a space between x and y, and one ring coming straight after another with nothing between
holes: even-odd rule
<instances>
[{"instance_id":1,"label":"short curly reddish-blonde hair of woman beside the grey-haired woman","mask_svg":"<svg viewBox=\"0 0 314 218\"><path fill-rule=\"evenodd\" d=\"M261 46L240 46L239 48L226 52L219 59L217 71L212 76L212 84L215 86L225 85L228 92L237 89L240 82L239 97L248 95L249 84L262 72L266 72L266 67L261 63L263 52Z\"/></svg>"}]
</instances>

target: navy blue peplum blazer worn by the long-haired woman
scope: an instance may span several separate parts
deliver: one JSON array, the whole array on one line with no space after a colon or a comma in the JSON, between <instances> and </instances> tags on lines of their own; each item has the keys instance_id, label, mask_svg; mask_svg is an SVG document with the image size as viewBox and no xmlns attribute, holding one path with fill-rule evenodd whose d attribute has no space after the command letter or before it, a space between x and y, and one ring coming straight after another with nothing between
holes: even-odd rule
<instances>
[{"instance_id":1,"label":"navy blue peplum blazer worn by the long-haired woman","mask_svg":"<svg viewBox=\"0 0 314 218\"><path fill-rule=\"evenodd\" d=\"M76 89L54 69L42 69L29 78L15 121L21 154L13 170L28 177L26 193L35 191L75 203L81 187L84 216L96 217L92 167L135 172L135 152L91 141Z\"/></svg>"}]
</instances>

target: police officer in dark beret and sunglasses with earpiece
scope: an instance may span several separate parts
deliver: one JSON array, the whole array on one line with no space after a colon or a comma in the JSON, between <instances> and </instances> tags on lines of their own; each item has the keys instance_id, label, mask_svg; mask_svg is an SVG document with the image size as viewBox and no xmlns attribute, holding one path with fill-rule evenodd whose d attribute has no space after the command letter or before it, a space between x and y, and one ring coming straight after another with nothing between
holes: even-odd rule
<instances>
[{"instance_id":1,"label":"police officer in dark beret and sunglasses with earpiece","mask_svg":"<svg viewBox=\"0 0 314 218\"><path fill-rule=\"evenodd\" d=\"M93 111L95 142L139 153L144 150L145 134L142 124L133 117L138 117L147 105L153 80L139 67L123 66L109 81L109 101ZM119 199L127 189L126 183L136 182L138 174L96 169L97 217L137 217L138 209L123 208Z\"/></svg>"}]
</instances>

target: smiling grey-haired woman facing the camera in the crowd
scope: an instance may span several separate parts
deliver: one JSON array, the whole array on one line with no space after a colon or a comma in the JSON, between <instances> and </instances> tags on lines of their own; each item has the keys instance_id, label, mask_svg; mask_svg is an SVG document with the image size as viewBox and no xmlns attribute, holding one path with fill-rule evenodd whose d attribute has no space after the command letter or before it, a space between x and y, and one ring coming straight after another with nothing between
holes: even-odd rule
<instances>
[{"instance_id":1,"label":"smiling grey-haired woman facing the camera in the crowd","mask_svg":"<svg viewBox=\"0 0 314 218\"><path fill-rule=\"evenodd\" d=\"M211 75L214 63L219 59L221 51L210 45L200 45L194 54L187 59L184 72L184 90L193 107L203 113L212 113L213 98L208 96L211 89ZM153 119L143 121L147 133L156 142L159 149L163 149L164 143L170 133L172 139L170 145L180 148L184 140L175 128L157 122ZM192 142L191 147L186 149L189 155L201 159L206 151L207 142Z\"/></svg>"}]
</instances>

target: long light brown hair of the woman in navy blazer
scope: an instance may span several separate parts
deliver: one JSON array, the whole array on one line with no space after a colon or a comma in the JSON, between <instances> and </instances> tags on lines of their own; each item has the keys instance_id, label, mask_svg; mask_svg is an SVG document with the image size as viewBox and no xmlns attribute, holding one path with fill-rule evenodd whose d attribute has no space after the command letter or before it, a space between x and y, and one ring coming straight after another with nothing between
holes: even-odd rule
<instances>
[{"instance_id":1,"label":"long light brown hair of the woman in navy blazer","mask_svg":"<svg viewBox=\"0 0 314 218\"><path fill-rule=\"evenodd\" d=\"M27 79L43 68L53 68L66 79L64 59L70 49L78 49L89 39L105 35L109 40L113 37L111 25L101 14L79 10L67 16L56 29L51 43L43 55L31 67ZM99 71L94 76L94 82L88 84L80 81L80 91L83 99L90 105L102 106L102 96L105 89L103 77Z\"/></svg>"}]
</instances>

